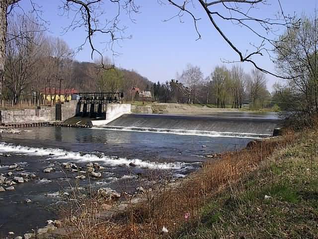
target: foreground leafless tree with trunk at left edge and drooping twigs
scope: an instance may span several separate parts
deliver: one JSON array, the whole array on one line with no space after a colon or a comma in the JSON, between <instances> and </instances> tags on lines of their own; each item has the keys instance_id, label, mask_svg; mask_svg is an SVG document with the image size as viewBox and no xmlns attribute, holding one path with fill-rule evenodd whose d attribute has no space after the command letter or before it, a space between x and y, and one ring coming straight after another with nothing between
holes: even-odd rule
<instances>
[{"instance_id":1,"label":"foreground leafless tree with trunk at left edge and drooping twigs","mask_svg":"<svg viewBox=\"0 0 318 239\"><path fill-rule=\"evenodd\" d=\"M0 94L4 77L5 43L9 40L7 39L8 15L13 13L14 9L21 9L25 13L24 9L19 5L20 1L27 0L0 0ZM31 5L31 11L43 20L40 14L41 10L36 1L28 1ZM123 34L125 27L120 24L120 14L125 11L131 16L133 12L138 12L138 5L135 4L134 0L63 0L61 4L60 8L64 11L64 14L72 18L64 30L69 31L81 28L86 31L86 36L83 37L83 44L79 46L79 49L88 43L91 48L92 59L94 54L102 56L103 50L109 48L114 55L117 54L113 47L114 44L117 40L129 38ZM116 10L106 14L106 8L114 9L114 7ZM104 41L105 49L97 49L95 47L94 39L99 34L108 36ZM20 36L15 35L12 38Z\"/></svg>"}]
</instances>

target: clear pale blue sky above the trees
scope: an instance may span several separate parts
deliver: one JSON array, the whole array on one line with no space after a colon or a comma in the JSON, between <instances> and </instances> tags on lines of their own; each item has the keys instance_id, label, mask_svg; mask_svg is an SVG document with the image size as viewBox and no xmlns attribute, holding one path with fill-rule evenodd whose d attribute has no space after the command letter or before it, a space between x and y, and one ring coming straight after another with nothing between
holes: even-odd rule
<instances>
[{"instance_id":1,"label":"clear pale blue sky above the trees","mask_svg":"<svg viewBox=\"0 0 318 239\"><path fill-rule=\"evenodd\" d=\"M108 0L103 8L104 15L100 17L103 22L106 17L111 18L115 8ZM165 0L161 0L166 2ZM181 0L176 0L182 2ZM29 0L23 0L20 5L24 9L30 7ZM86 35L84 29L74 29L63 33L65 26L70 24L72 14L62 14L59 6L63 0L34 0L42 11L41 17L49 22L47 28L49 34L59 36L64 39L71 48L77 49L84 41ZM159 4L158 0L135 0L140 6L139 13L133 14L132 21L124 11L120 14L120 25L127 27L124 36L131 36L130 39L120 40L114 45L114 49L119 53L112 57L112 52L108 49L103 51L103 55L111 58L117 67L133 69L153 82L165 82L176 77L176 72L181 73L188 63L199 66L205 77L209 76L215 66L226 64L231 68L231 64L225 61L237 61L239 56L228 45L228 43L216 31L207 14L203 12L198 2L194 0L194 8L191 8L196 17L198 30L201 39L195 31L193 20L189 15L182 17L182 22L178 17L165 21L178 13L176 7L169 4ZM260 5L251 10L253 16L260 18L274 17L279 10L278 0L268 0L268 5ZM314 15L318 0L281 0L285 15L298 16L302 14ZM216 6L215 11L224 11L222 5ZM245 28L234 25L231 22L216 18L219 26L225 34L243 53L253 50L252 45L260 43L260 39ZM252 25L260 30L259 25ZM277 29L276 34L282 33ZM102 42L109 40L105 35L98 35L94 38L96 48L104 49ZM94 56L95 58L98 55ZM79 61L93 61L91 59L91 49L88 44L84 45L75 56ZM257 64L272 72L275 72L274 63L268 56L254 57ZM238 63L249 72L253 66L250 63ZM271 91L275 82L284 83L284 80L274 76L266 75L267 87Z\"/></svg>"}]
</instances>

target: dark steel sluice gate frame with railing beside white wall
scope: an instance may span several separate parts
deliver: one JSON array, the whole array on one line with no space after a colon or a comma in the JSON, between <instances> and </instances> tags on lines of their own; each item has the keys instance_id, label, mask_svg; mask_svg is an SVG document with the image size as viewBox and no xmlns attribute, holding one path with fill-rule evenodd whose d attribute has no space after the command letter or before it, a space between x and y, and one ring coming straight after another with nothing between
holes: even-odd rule
<instances>
[{"instance_id":1,"label":"dark steel sluice gate frame with railing beside white wall","mask_svg":"<svg viewBox=\"0 0 318 239\"><path fill-rule=\"evenodd\" d=\"M122 92L88 92L77 93L77 116L90 118L105 118L107 104L123 104Z\"/></svg>"}]
</instances>

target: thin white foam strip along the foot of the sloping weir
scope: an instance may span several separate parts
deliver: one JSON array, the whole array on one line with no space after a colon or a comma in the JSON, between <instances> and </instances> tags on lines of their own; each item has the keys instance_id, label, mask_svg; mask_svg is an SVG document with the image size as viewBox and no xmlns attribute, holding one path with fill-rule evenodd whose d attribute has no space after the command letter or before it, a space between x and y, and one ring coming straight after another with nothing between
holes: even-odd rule
<instances>
[{"instance_id":1,"label":"thin white foam strip along the foot of the sloping weir","mask_svg":"<svg viewBox=\"0 0 318 239\"><path fill-rule=\"evenodd\" d=\"M171 128L149 128L149 127L126 127L126 126L98 126L93 129L106 129L117 131L134 131L134 132L151 132L151 133L169 133L179 135L195 135L205 137L236 137L236 138L265 138L270 137L270 134L261 133L238 133L238 132L217 132L205 130L190 130L190 129L171 129Z\"/></svg>"}]
</instances>

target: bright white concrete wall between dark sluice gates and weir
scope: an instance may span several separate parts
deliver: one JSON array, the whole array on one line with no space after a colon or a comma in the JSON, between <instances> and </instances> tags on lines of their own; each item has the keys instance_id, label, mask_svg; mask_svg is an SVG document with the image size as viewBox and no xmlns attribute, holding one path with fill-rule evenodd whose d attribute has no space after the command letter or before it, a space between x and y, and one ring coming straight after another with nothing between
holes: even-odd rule
<instances>
[{"instance_id":1,"label":"bright white concrete wall between dark sluice gates and weir","mask_svg":"<svg viewBox=\"0 0 318 239\"><path fill-rule=\"evenodd\" d=\"M87 122L93 126L106 125L107 123L117 119L125 114L131 113L130 104L107 104L106 107L106 119L104 120L92 120Z\"/></svg>"}]
</instances>

